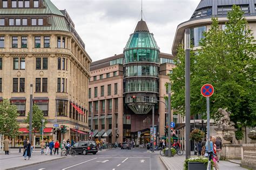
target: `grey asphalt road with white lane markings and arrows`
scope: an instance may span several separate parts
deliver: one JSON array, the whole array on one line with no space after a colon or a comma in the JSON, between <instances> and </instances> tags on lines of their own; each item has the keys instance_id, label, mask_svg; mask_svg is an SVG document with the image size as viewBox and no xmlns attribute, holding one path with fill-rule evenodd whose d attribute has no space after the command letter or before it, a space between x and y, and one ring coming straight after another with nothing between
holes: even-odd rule
<instances>
[{"instance_id":1,"label":"grey asphalt road with white lane markings and arrows","mask_svg":"<svg viewBox=\"0 0 256 170\"><path fill-rule=\"evenodd\" d=\"M96 155L75 155L74 157L69 155L65 159L28 166L22 169L161 170L165 169L165 167L159 159L159 153L148 153L147 150L140 148L133 148L132 150L120 150L120 148L117 148L99 151Z\"/></svg>"}]
</instances>

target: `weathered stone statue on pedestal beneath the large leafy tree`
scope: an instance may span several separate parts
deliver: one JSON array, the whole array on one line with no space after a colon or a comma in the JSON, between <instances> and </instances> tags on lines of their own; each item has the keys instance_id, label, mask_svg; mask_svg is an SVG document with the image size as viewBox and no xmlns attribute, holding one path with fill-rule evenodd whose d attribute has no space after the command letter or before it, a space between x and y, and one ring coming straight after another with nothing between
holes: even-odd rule
<instances>
[{"instance_id":1,"label":"weathered stone statue on pedestal beneath the large leafy tree","mask_svg":"<svg viewBox=\"0 0 256 170\"><path fill-rule=\"evenodd\" d=\"M230 121L231 112L227 111L227 108L219 108L218 112L220 112L220 114L223 115L223 117L220 118L217 125L222 128L234 128L234 122Z\"/></svg>"}]
</instances>

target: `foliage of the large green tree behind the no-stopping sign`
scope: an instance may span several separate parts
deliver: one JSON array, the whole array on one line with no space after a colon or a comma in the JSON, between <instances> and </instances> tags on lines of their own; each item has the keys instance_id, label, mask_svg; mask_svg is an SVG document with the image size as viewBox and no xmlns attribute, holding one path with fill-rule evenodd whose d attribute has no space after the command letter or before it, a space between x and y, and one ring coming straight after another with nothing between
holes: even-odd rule
<instances>
[{"instance_id":1,"label":"foliage of the large green tree behind the no-stopping sign","mask_svg":"<svg viewBox=\"0 0 256 170\"><path fill-rule=\"evenodd\" d=\"M218 108L228 108L231 120L243 126L256 125L255 39L239 6L233 6L228 22L221 30L217 18L204 33L197 52L191 52L191 114L206 115L206 98L200 88L206 83L214 87L210 97L212 118ZM172 106L185 114L185 52L178 47L177 67L170 75Z\"/></svg>"}]
</instances>

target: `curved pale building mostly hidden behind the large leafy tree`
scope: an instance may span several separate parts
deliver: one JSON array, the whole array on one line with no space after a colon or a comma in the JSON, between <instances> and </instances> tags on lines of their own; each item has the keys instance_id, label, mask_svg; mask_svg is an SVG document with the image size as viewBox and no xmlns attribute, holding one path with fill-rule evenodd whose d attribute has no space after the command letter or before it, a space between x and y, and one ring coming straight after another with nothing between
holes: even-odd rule
<instances>
[{"instance_id":1,"label":"curved pale building mostly hidden behind the large leafy tree","mask_svg":"<svg viewBox=\"0 0 256 170\"><path fill-rule=\"evenodd\" d=\"M211 28L212 17L218 17L218 21L221 29L225 29L225 23L228 21L227 13L231 11L233 5L240 6L241 10L244 11L244 17L247 19L248 27L253 31L254 37L256 37L256 1L212 1L212 0L201 0L198 4L196 10L193 12L191 18L186 22L178 25L176 34L174 37L172 45L172 54L177 55L177 47L179 44L184 44L185 42L185 29L190 29L191 32L191 42L194 46L194 50L198 49L199 41L204 38L203 33L207 32ZM178 115L178 122L181 128L181 132L185 132L185 117ZM211 123L213 121L211 120ZM200 115L191 116L191 129L194 127L206 129L206 120L202 120ZM211 126L211 134L214 135L215 130ZM184 133L183 133L184 136ZM245 138L244 138L245 139ZM184 139L182 140L184 143ZM191 141L191 150L193 150L193 143Z\"/></svg>"}]
</instances>

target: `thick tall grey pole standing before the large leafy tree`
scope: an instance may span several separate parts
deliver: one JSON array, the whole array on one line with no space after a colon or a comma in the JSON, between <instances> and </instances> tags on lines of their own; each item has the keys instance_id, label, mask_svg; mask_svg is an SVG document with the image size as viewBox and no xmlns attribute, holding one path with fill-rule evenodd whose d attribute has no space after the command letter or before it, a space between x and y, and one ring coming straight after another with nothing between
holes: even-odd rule
<instances>
[{"instance_id":1,"label":"thick tall grey pole standing before the large leafy tree","mask_svg":"<svg viewBox=\"0 0 256 170\"><path fill-rule=\"evenodd\" d=\"M190 158L190 29L185 30L185 140L186 140L186 159Z\"/></svg>"}]
</instances>

